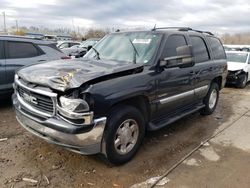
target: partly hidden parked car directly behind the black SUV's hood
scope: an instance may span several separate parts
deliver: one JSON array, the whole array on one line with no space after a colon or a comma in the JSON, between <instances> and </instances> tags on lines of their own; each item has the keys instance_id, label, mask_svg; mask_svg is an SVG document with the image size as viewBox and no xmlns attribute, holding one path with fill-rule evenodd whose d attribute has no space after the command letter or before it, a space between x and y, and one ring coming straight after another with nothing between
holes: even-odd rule
<instances>
[{"instance_id":1,"label":"partly hidden parked car directly behind the black SUV's hood","mask_svg":"<svg viewBox=\"0 0 250 188\"><path fill-rule=\"evenodd\" d=\"M72 46L71 48L64 48L62 51L68 56L74 56L76 58L83 57L99 40L100 39L97 38L88 39L80 45Z\"/></svg>"}]
</instances>

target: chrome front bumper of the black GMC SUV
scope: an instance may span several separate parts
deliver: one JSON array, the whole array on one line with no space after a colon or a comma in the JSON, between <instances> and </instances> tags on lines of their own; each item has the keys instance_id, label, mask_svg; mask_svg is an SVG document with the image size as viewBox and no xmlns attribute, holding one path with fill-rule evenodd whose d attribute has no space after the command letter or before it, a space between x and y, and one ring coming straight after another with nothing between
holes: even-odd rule
<instances>
[{"instance_id":1,"label":"chrome front bumper of the black GMC SUV","mask_svg":"<svg viewBox=\"0 0 250 188\"><path fill-rule=\"evenodd\" d=\"M49 143L66 147L67 149L78 153L96 154L101 152L101 143L107 121L106 117L95 119L94 127L89 132L67 134L46 127L42 125L42 123L26 117L18 110L16 112L16 118L23 128ZM92 146L94 146L94 149ZM73 148L77 150L74 150Z\"/></svg>"}]
</instances>

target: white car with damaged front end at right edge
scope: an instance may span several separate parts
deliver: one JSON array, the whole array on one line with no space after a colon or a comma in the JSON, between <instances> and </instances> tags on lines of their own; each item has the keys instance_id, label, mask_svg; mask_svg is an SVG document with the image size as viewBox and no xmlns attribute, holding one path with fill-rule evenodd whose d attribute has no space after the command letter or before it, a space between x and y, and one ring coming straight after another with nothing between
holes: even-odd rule
<instances>
[{"instance_id":1,"label":"white car with damaged front end at right edge","mask_svg":"<svg viewBox=\"0 0 250 188\"><path fill-rule=\"evenodd\" d=\"M228 76L227 83L234 84L239 88L245 88L250 80L250 57L249 52L227 52Z\"/></svg>"}]
</instances>

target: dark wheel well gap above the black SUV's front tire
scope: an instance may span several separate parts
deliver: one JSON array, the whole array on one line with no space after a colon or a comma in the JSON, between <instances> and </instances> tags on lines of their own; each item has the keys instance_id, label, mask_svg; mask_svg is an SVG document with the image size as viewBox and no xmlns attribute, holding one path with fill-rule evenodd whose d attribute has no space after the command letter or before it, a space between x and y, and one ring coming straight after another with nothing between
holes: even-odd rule
<instances>
[{"instance_id":1,"label":"dark wheel well gap above the black SUV's front tire","mask_svg":"<svg viewBox=\"0 0 250 188\"><path fill-rule=\"evenodd\" d=\"M111 106L111 109L118 105L128 105L137 108L145 118L145 122L148 122L150 117L149 101L145 96L136 96L129 99L119 101Z\"/></svg>"}]
</instances>

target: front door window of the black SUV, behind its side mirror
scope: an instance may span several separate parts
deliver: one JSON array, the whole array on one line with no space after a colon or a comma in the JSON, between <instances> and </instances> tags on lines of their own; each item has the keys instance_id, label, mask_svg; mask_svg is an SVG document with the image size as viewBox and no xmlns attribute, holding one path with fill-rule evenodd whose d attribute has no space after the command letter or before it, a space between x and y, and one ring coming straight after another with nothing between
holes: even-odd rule
<instances>
[{"instance_id":1,"label":"front door window of the black SUV, behind its side mirror","mask_svg":"<svg viewBox=\"0 0 250 188\"><path fill-rule=\"evenodd\" d=\"M186 46L187 41L183 35L172 35L167 39L166 46L164 48L164 57L177 56L176 49L180 46Z\"/></svg>"}]
</instances>

